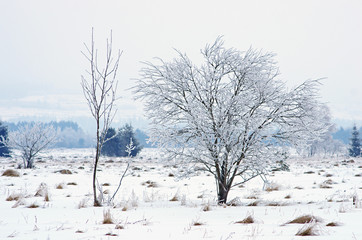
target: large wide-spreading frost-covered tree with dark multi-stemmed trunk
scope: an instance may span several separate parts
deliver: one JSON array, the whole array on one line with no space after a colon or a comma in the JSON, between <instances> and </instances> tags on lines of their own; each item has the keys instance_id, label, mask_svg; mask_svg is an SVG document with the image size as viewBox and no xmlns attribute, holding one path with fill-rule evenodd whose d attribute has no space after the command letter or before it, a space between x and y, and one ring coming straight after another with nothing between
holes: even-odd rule
<instances>
[{"instance_id":1,"label":"large wide-spreading frost-covered tree with dark multi-stemmed trunk","mask_svg":"<svg viewBox=\"0 0 362 240\"><path fill-rule=\"evenodd\" d=\"M201 54L200 66L179 51L171 62L145 63L135 93L151 120L150 140L183 172L211 173L225 203L232 187L282 160L284 146L319 137L327 124L319 82L288 90L274 54L227 49L221 38Z\"/></svg>"}]
</instances>

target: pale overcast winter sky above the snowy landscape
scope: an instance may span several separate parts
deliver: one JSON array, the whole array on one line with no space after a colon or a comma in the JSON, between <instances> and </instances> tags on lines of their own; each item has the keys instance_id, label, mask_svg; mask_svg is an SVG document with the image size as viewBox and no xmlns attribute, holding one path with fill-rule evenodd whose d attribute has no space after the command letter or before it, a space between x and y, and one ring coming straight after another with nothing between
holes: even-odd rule
<instances>
[{"instance_id":1,"label":"pale overcast winter sky above the snowy landscape","mask_svg":"<svg viewBox=\"0 0 362 240\"><path fill-rule=\"evenodd\" d=\"M90 116L80 87L88 67L80 51L95 29L104 49L113 30L123 50L117 119L142 117L125 89L141 61L171 60L174 48L197 58L223 35L226 47L277 54L289 86L326 78L321 99L335 119L362 121L362 2L91 1L0 2L0 119L73 120Z\"/></svg>"}]
</instances>

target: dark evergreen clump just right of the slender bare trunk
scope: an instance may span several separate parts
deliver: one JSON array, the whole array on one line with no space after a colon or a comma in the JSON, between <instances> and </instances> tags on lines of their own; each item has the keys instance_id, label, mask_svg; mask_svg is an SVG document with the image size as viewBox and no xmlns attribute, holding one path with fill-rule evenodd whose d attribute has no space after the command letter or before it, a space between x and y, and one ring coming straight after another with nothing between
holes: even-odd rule
<instances>
[{"instance_id":1,"label":"dark evergreen clump just right of the slender bare trunk","mask_svg":"<svg viewBox=\"0 0 362 240\"><path fill-rule=\"evenodd\" d=\"M114 128L109 128L106 134L106 142L102 147L102 154L109 157L126 157L128 153L126 152L126 146L130 143L132 138L133 146L135 149L131 152L131 156L136 156L142 149L137 138L135 137L135 132L133 127L130 124L126 124L118 131Z\"/></svg>"}]
</instances>

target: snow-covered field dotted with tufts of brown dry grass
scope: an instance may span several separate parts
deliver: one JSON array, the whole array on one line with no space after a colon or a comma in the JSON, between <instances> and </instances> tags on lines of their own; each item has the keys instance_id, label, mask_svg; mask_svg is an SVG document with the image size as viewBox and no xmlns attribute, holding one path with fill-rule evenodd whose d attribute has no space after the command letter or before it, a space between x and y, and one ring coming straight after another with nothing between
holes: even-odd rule
<instances>
[{"instance_id":1,"label":"snow-covered field dotted with tufts of brown dry grass","mask_svg":"<svg viewBox=\"0 0 362 240\"><path fill-rule=\"evenodd\" d=\"M0 239L362 239L361 159L291 159L290 172L272 173L264 190L254 179L230 192L235 206L218 206L212 176L176 180L175 168L162 164L157 150L145 149L114 206L93 207L92 154L52 150L35 169L0 176ZM105 198L117 188L125 162L101 160ZM0 158L0 175L19 163ZM103 223L107 214L113 223ZM305 215L315 220L288 224ZM253 223L241 223L249 216ZM308 227L316 236L296 236Z\"/></svg>"}]
</instances>

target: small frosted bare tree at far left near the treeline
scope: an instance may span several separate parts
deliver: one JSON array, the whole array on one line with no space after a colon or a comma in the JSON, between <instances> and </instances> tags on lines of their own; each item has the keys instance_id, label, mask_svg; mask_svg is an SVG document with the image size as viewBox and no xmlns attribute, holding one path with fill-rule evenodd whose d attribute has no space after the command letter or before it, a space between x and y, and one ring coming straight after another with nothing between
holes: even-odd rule
<instances>
[{"instance_id":1,"label":"small frosted bare tree at far left near the treeline","mask_svg":"<svg viewBox=\"0 0 362 240\"><path fill-rule=\"evenodd\" d=\"M42 123L20 126L9 133L8 139L1 141L11 149L18 149L23 159L24 168L33 168L35 157L55 143L57 134L51 125Z\"/></svg>"}]
</instances>

